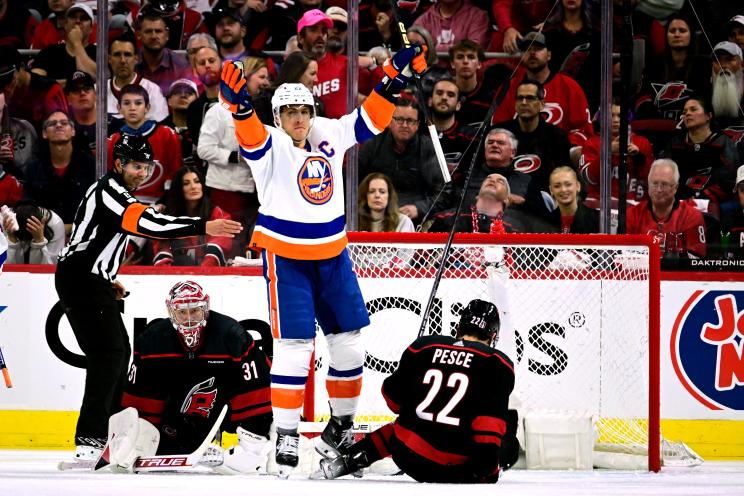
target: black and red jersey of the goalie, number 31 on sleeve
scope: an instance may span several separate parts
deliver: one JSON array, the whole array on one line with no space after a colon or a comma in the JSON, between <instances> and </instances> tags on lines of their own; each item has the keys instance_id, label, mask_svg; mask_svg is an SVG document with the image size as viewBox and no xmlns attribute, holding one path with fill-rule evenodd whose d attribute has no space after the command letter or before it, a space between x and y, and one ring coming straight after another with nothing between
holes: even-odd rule
<instances>
[{"instance_id":1,"label":"black and red jersey of the goalie, number 31 on sleeve","mask_svg":"<svg viewBox=\"0 0 744 496\"><path fill-rule=\"evenodd\" d=\"M272 415L266 355L237 321L213 310L202 339L201 347L189 352L169 319L147 326L134 341L122 405L136 408L158 427L161 448L195 449L225 404L230 407L225 430L241 426L268 437ZM164 438L170 442L162 443Z\"/></svg>"}]
</instances>

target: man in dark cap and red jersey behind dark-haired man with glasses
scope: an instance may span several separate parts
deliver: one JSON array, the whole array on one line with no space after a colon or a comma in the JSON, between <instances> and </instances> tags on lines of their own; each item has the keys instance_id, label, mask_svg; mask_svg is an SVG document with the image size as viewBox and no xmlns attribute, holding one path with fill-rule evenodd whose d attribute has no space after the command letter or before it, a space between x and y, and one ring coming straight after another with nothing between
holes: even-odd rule
<instances>
[{"instance_id":1,"label":"man in dark cap and red jersey behind dark-haired man with glasses","mask_svg":"<svg viewBox=\"0 0 744 496\"><path fill-rule=\"evenodd\" d=\"M551 51L546 45L545 35L528 33L522 40L522 68L514 75L514 81L527 77L539 81L545 87L545 121L555 124L568 133L571 143L581 146L593 134L589 118L589 104L581 86L565 74L550 70ZM496 110L492 122L502 122L514 117L517 85L512 84L504 101Z\"/></svg>"}]
</instances>

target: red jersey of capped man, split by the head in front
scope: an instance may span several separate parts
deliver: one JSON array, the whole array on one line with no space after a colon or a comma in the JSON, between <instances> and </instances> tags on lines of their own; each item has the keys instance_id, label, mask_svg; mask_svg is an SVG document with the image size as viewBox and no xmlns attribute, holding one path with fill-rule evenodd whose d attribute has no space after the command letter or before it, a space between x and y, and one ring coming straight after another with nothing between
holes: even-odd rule
<instances>
[{"instance_id":1,"label":"red jersey of capped man, split by the head in front","mask_svg":"<svg viewBox=\"0 0 744 496\"><path fill-rule=\"evenodd\" d=\"M504 101L493 114L492 123L508 121L516 117L514 110L518 83L527 75L525 70L517 71L512 78L509 91ZM589 116L589 103L581 86L570 77L561 73L551 73L543 83L545 88L545 105L541 112L545 122L553 124L568 133L573 145L581 146L594 135Z\"/></svg>"}]
</instances>

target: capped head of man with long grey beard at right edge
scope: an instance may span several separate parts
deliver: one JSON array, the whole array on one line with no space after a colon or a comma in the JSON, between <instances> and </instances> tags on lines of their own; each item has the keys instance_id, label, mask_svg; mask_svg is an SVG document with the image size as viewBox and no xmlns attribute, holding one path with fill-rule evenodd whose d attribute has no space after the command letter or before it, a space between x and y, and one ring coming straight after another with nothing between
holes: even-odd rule
<instances>
[{"instance_id":1,"label":"capped head of man with long grey beard at right edge","mask_svg":"<svg viewBox=\"0 0 744 496\"><path fill-rule=\"evenodd\" d=\"M722 41L713 49L713 93L711 104L716 121L722 128L744 125L742 95L744 73L742 51L739 45Z\"/></svg>"}]
</instances>

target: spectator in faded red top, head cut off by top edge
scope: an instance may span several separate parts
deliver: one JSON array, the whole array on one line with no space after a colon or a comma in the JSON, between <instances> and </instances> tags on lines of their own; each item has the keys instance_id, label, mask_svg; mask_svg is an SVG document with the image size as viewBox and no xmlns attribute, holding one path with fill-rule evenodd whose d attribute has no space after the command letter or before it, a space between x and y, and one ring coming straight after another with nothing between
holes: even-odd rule
<instances>
[{"instance_id":1,"label":"spectator in faded red top, head cut off by top edge","mask_svg":"<svg viewBox=\"0 0 744 496\"><path fill-rule=\"evenodd\" d=\"M414 25L425 27L434 38L437 51L442 52L460 40L473 40L480 46L487 46L490 40L488 13L470 0L439 0Z\"/></svg>"}]
</instances>

